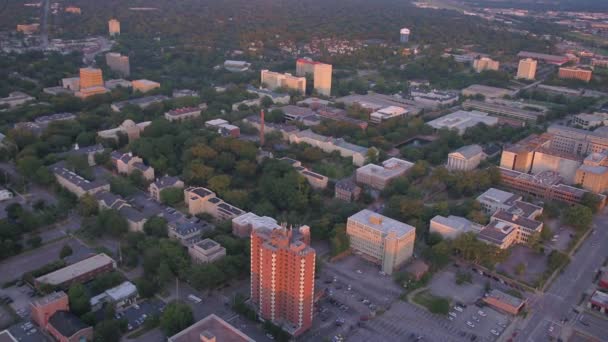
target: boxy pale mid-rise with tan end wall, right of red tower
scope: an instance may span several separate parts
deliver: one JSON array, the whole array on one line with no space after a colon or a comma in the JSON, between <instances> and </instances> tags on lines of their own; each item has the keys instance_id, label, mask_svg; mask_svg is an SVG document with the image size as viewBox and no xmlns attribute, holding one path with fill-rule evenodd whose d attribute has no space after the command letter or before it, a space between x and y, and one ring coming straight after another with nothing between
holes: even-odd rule
<instances>
[{"instance_id":1,"label":"boxy pale mid-rise with tan end wall, right of red tower","mask_svg":"<svg viewBox=\"0 0 608 342\"><path fill-rule=\"evenodd\" d=\"M414 253L416 228L364 209L348 218L350 248L392 274Z\"/></svg>"}]
</instances>

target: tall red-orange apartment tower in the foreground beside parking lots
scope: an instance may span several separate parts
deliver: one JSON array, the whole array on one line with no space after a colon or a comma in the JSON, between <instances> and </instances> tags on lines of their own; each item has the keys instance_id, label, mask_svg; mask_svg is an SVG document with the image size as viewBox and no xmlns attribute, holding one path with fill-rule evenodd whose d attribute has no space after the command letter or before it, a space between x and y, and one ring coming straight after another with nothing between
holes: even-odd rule
<instances>
[{"instance_id":1,"label":"tall red-orange apartment tower in the foreground beside parking lots","mask_svg":"<svg viewBox=\"0 0 608 342\"><path fill-rule=\"evenodd\" d=\"M251 302L293 336L312 325L316 253L309 241L308 226L251 231Z\"/></svg>"}]
</instances>

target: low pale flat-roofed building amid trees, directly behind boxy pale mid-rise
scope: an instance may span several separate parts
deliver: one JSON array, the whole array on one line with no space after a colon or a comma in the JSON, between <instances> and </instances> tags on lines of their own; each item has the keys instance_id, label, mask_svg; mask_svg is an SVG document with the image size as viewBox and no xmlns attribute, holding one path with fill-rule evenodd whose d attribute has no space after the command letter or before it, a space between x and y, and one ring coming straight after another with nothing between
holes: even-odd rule
<instances>
[{"instance_id":1,"label":"low pale flat-roofed building amid trees, directly behind boxy pale mid-rise","mask_svg":"<svg viewBox=\"0 0 608 342\"><path fill-rule=\"evenodd\" d=\"M367 164L357 169L356 180L377 190L384 189L393 179L403 176L414 163L398 158L390 158L382 165Z\"/></svg>"}]
</instances>

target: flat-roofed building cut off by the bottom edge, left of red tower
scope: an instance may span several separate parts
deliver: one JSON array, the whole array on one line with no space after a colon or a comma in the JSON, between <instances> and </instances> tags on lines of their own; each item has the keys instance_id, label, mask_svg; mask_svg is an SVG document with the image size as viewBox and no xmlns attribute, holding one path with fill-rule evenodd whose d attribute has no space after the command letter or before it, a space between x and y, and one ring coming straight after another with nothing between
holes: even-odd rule
<instances>
[{"instance_id":1,"label":"flat-roofed building cut off by the bottom edge, left of red tower","mask_svg":"<svg viewBox=\"0 0 608 342\"><path fill-rule=\"evenodd\" d=\"M254 339L211 314L169 337L167 342L255 342Z\"/></svg>"}]
</instances>

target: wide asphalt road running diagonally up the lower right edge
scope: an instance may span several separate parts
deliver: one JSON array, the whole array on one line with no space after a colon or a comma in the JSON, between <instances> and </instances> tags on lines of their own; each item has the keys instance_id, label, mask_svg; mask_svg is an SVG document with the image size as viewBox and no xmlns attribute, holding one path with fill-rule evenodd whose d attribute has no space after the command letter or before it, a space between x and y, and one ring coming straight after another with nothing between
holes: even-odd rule
<instances>
[{"instance_id":1,"label":"wide asphalt road running diagonally up the lower right edge","mask_svg":"<svg viewBox=\"0 0 608 342\"><path fill-rule=\"evenodd\" d=\"M578 315L573 308L578 306L581 295L591 286L595 272L608 257L606 210L595 217L593 227L595 232L583 242L564 272L554 280L545 294L532 304L532 313L522 322L517 341L545 341L552 324L558 327L570 327L577 322ZM564 318L568 321L562 324ZM598 329L598 331L605 330ZM597 338L608 340L608 336L597 336Z\"/></svg>"}]
</instances>

